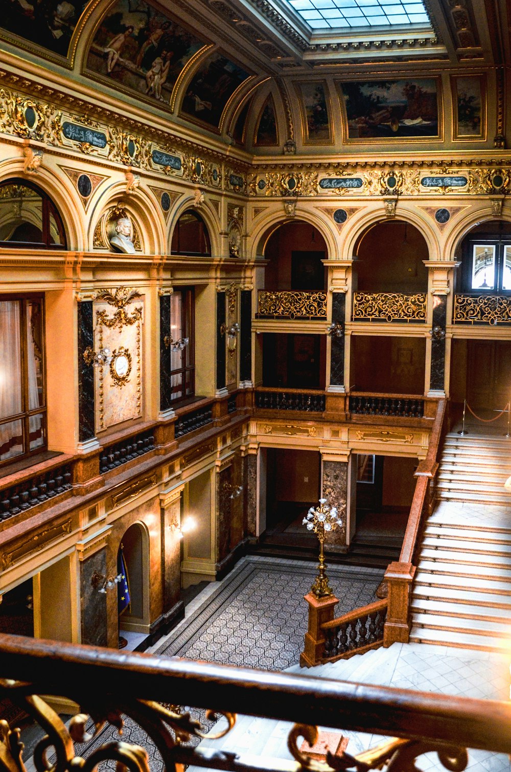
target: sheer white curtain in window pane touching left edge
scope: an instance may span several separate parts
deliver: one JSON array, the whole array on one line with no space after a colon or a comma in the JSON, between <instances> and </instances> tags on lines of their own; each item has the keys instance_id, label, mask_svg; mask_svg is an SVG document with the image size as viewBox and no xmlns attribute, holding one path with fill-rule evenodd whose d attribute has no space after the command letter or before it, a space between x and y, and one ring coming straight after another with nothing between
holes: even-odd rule
<instances>
[{"instance_id":1,"label":"sheer white curtain in window pane touching left edge","mask_svg":"<svg viewBox=\"0 0 511 772\"><path fill-rule=\"evenodd\" d=\"M19 302L0 302L0 418L22 411ZM22 421L0 424L0 461L23 452Z\"/></svg>"}]
</instances>

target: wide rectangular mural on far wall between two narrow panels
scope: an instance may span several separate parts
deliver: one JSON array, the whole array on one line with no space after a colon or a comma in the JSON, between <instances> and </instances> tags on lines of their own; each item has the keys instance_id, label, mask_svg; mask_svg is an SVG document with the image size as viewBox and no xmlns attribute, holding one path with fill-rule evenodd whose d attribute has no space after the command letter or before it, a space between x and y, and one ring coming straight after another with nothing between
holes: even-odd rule
<instances>
[{"instance_id":1,"label":"wide rectangular mural on far wall between two narrow panels","mask_svg":"<svg viewBox=\"0 0 511 772\"><path fill-rule=\"evenodd\" d=\"M348 141L367 138L439 137L438 81L352 81L340 83Z\"/></svg>"}]
</instances>

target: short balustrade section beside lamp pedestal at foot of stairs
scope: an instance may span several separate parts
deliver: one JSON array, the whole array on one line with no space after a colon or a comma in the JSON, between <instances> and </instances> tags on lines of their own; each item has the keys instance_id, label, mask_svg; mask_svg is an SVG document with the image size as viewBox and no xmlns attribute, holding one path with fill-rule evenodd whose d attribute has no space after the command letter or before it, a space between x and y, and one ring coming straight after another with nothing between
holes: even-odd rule
<instances>
[{"instance_id":1,"label":"short balustrade section beside lamp pedestal at foot of stairs","mask_svg":"<svg viewBox=\"0 0 511 772\"><path fill-rule=\"evenodd\" d=\"M387 601L377 601L363 608L350 611L342 617L325 622L321 629L325 635L322 662L362 654L383 643Z\"/></svg>"}]
</instances>

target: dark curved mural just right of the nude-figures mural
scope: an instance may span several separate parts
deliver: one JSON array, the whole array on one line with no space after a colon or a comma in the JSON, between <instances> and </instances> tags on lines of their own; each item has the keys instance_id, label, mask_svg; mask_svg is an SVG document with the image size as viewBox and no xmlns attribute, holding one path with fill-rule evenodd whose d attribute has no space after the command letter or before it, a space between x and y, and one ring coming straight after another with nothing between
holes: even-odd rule
<instances>
[{"instance_id":1,"label":"dark curved mural just right of the nude-figures mural","mask_svg":"<svg viewBox=\"0 0 511 772\"><path fill-rule=\"evenodd\" d=\"M208 56L191 79L181 105L181 113L218 127L225 105L249 73L220 53Z\"/></svg>"}]
</instances>

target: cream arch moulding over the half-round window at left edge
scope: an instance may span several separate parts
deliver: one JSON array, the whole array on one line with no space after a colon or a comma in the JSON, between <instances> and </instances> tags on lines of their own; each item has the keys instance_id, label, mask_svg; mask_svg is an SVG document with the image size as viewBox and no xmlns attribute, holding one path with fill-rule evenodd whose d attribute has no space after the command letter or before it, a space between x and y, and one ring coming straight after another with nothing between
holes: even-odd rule
<instances>
[{"instance_id":1,"label":"cream arch moulding over the half-round window at left edge","mask_svg":"<svg viewBox=\"0 0 511 772\"><path fill-rule=\"evenodd\" d=\"M0 183L19 178L29 185L36 185L51 198L63 221L68 250L83 250L86 244L86 224L83 204L77 191L57 176L52 169L39 166L36 174L26 174L21 159L9 159L0 164Z\"/></svg>"}]
</instances>

